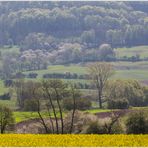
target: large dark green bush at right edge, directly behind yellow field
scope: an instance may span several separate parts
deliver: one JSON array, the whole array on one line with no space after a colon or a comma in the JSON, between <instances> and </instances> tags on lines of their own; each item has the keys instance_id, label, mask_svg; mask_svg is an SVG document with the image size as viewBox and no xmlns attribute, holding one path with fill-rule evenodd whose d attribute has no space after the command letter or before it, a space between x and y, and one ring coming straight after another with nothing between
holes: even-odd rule
<instances>
[{"instance_id":1,"label":"large dark green bush at right edge, directly behind yellow field","mask_svg":"<svg viewBox=\"0 0 148 148\"><path fill-rule=\"evenodd\" d=\"M146 134L148 122L143 112L131 113L126 121L126 132L128 134Z\"/></svg>"}]
</instances>

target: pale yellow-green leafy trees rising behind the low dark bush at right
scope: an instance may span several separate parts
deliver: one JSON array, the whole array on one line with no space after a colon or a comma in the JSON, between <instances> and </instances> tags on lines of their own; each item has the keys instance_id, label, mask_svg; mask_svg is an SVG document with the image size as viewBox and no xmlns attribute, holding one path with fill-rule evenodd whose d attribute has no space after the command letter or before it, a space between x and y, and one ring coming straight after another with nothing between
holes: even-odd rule
<instances>
[{"instance_id":1,"label":"pale yellow-green leafy trees rising behind the low dark bush at right","mask_svg":"<svg viewBox=\"0 0 148 148\"><path fill-rule=\"evenodd\" d=\"M136 80L114 80L108 84L110 99L125 98L131 106L144 105L144 93L141 84Z\"/></svg>"}]
</instances>

